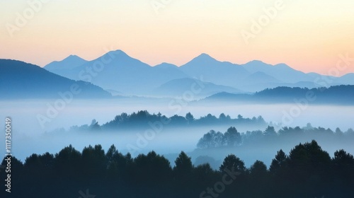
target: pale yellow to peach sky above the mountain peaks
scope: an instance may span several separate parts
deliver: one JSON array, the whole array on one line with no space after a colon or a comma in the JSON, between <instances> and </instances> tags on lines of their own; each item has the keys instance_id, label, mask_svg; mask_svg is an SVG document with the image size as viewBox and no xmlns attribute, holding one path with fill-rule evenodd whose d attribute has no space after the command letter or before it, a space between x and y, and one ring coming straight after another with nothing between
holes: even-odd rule
<instances>
[{"instance_id":1,"label":"pale yellow to peach sky above the mountain peaks","mask_svg":"<svg viewBox=\"0 0 354 198\"><path fill-rule=\"evenodd\" d=\"M152 66L207 53L354 72L353 0L16 0L0 1L0 13L0 58L39 66L123 50Z\"/></svg>"}]
</instances>

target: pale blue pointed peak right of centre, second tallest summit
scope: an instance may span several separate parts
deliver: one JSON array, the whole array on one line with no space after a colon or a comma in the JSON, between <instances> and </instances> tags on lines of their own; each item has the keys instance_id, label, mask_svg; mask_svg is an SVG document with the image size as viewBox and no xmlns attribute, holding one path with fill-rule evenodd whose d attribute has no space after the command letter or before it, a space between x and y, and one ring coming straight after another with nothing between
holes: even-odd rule
<instances>
[{"instance_id":1,"label":"pale blue pointed peak right of centre, second tallest summit","mask_svg":"<svg viewBox=\"0 0 354 198\"><path fill-rule=\"evenodd\" d=\"M200 78L223 86L238 86L241 79L251 74L238 64L219 62L208 54L200 54L180 67L188 76Z\"/></svg>"}]
</instances>

